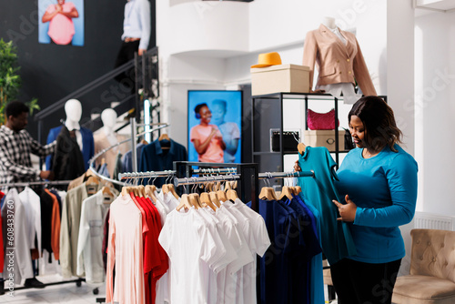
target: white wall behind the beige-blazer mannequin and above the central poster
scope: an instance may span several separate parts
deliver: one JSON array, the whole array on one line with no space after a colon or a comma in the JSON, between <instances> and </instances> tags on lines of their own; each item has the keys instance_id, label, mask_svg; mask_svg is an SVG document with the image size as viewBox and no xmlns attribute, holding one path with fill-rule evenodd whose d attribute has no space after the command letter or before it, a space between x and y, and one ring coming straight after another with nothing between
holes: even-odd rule
<instances>
[{"instance_id":1,"label":"white wall behind the beige-blazer mannequin and above the central poster","mask_svg":"<svg viewBox=\"0 0 455 304\"><path fill-rule=\"evenodd\" d=\"M221 18L223 11L226 15ZM232 17L234 11L238 14ZM182 110L187 108L187 89L248 84L249 68L258 62L259 53L277 51L284 64L300 65L306 33L318 28L326 15L335 17L341 29L356 32L373 83L380 95L387 95L383 1L195 1L172 6L158 1L162 120L171 124L169 133L176 139L186 138L178 132L186 133L181 124L187 119Z\"/></svg>"}]
</instances>

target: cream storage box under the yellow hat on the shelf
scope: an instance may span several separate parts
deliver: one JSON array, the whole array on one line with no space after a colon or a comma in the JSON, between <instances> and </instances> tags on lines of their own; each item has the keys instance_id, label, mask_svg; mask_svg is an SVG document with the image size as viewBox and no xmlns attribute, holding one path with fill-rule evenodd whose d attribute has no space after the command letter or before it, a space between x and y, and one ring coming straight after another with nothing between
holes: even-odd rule
<instances>
[{"instance_id":1,"label":"cream storage box under the yellow hat on the shelf","mask_svg":"<svg viewBox=\"0 0 455 304\"><path fill-rule=\"evenodd\" d=\"M251 68L252 95L270 93L308 93L309 67L278 65Z\"/></svg>"}]
</instances>

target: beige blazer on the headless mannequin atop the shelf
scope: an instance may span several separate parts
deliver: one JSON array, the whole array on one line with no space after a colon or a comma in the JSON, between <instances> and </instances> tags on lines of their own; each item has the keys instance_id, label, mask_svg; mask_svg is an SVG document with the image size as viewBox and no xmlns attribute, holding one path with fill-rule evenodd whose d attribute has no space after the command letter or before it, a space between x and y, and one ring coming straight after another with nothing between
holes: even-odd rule
<instances>
[{"instance_id":1,"label":"beige blazer on the headless mannequin atop the shelf","mask_svg":"<svg viewBox=\"0 0 455 304\"><path fill-rule=\"evenodd\" d=\"M355 80L365 96L376 96L376 90L356 36L339 30L346 38L346 46L325 25L307 33L303 45L303 66L309 66L309 86L313 86L314 66L318 65L318 86ZM355 77L355 79L354 79Z\"/></svg>"}]
</instances>

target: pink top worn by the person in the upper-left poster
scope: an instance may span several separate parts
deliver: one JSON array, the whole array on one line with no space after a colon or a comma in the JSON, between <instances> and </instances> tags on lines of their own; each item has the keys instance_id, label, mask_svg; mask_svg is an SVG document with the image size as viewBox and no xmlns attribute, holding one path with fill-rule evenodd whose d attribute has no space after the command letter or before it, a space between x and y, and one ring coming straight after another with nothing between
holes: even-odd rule
<instances>
[{"instance_id":1,"label":"pink top worn by the person in the upper-left poster","mask_svg":"<svg viewBox=\"0 0 455 304\"><path fill-rule=\"evenodd\" d=\"M69 13L75 8L75 5L71 2L66 2L62 5L63 12ZM49 5L46 12L51 14L56 11L56 5ZM49 31L47 32L57 45L67 45L73 40L75 35L75 25L71 18L66 15L57 14L49 22Z\"/></svg>"}]
</instances>

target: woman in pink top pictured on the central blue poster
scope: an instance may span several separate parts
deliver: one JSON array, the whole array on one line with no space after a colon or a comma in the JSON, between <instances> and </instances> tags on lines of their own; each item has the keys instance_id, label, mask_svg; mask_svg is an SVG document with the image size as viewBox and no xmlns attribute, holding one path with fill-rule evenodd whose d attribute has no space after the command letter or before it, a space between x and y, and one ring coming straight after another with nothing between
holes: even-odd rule
<instances>
[{"instance_id":1,"label":"woman in pink top pictured on the central blue poster","mask_svg":"<svg viewBox=\"0 0 455 304\"><path fill-rule=\"evenodd\" d=\"M212 113L206 103L195 106L195 116L200 123L191 128L190 139L199 162L223 163L226 144L217 126L210 125Z\"/></svg>"}]
</instances>

